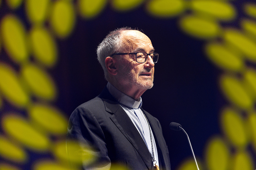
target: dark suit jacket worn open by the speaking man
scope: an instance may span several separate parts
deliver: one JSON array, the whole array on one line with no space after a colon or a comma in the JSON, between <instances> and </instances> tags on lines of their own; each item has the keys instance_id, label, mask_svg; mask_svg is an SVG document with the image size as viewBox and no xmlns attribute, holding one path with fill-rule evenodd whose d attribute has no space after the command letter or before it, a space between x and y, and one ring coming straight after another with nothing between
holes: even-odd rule
<instances>
[{"instance_id":1,"label":"dark suit jacket worn open by the speaking man","mask_svg":"<svg viewBox=\"0 0 256 170\"><path fill-rule=\"evenodd\" d=\"M159 168L169 170L169 153L161 125L151 114L143 112L155 137ZM89 144L96 150L98 159L91 165L93 167L107 168L120 163L131 170L154 169L141 135L106 87L99 96L81 104L71 114L67 133L68 155L70 139ZM83 165L84 169L89 167Z\"/></svg>"}]
</instances>

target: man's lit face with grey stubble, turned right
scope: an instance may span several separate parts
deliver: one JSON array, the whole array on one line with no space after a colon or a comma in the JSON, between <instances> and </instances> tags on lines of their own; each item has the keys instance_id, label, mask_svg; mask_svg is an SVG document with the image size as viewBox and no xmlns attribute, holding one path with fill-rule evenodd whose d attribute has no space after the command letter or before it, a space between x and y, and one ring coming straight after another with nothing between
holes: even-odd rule
<instances>
[{"instance_id":1,"label":"man's lit face with grey stubble, turned right","mask_svg":"<svg viewBox=\"0 0 256 170\"><path fill-rule=\"evenodd\" d=\"M128 47L127 51L122 51L122 53L154 52L150 39L140 31L124 31L122 40L125 46ZM154 65L150 56L147 56L147 60L144 63L138 63L135 55L120 56L118 63L119 81L124 87L150 89L153 87Z\"/></svg>"}]
</instances>

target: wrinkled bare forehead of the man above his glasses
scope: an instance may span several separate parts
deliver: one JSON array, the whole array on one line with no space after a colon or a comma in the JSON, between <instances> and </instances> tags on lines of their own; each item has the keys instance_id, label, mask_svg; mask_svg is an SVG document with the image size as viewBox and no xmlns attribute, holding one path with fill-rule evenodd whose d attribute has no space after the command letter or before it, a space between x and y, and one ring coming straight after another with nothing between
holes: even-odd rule
<instances>
[{"instance_id":1,"label":"wrinkled bare forehead of the man above his glasses","mask_svg":"<svg viewBox=\"0 0 256 170\"><path fill-rule=\"evenodd\" d=\"M136 49L147 52L154 51L151 40L142 32L137 30L125 30L121 32L121 39L124 45L123 52L137 52Z\"/></svg>"}]
</instances>

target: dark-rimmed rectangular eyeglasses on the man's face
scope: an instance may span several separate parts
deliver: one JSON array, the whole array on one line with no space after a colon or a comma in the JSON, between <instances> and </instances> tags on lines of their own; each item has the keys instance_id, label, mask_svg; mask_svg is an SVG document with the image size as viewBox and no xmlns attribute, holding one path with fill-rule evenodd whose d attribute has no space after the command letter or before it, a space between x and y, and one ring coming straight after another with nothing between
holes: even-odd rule
<instances>
[{"instance_id":1,"label":"dark-rimmed rectangular eyeglasses on the man's face","mask_svg":"<svg viewBox=\"0 0 256 170\"><path fill-rule=\"evenodd\" d=\"M147 54L147 53L144 53L144 52L137 52L137 53L115 53L115 54L112 54L110 57L112 57L114 55L126 55L126 54L133 54L133 55L135 55L136 61L138 63L146 62L148 55L152 58L154 63L157 63L158 56L159 56L158 53L149 53L149 54Z\"/></svg>"}]
</instances>

